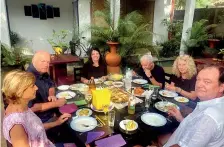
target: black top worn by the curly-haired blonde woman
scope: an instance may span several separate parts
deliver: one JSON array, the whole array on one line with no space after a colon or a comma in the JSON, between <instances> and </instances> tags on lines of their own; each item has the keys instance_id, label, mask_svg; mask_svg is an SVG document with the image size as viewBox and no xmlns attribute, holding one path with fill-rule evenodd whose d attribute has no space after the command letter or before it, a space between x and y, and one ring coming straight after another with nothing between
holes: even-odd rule
<instances>
[{"instance_id":1,"label":"black top worn by the curly-haired blonde woman","mask_svg":"<svg viewBox=\"0 0 224 147\"><path fill-rule=\"evenodd\" d=\"M191 79L182 79L181 77L178 78L177 76L173 75L171 77L171 82L173 82L176 87L180 87L184 91L195 91L196 75Z\"/></svg>"}]
</instances>

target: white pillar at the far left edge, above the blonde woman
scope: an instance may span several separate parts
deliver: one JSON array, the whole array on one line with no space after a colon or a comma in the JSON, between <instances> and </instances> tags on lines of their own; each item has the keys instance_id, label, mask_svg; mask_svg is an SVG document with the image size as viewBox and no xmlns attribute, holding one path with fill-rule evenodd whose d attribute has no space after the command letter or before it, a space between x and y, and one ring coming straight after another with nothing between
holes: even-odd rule
<instances>
[{"instance_id":1,"label":"white pillar at the far left edge, above the blonde woman","mask_svg":"<svg viewBox=\"0 0 224 147\"><path fill-rule=\"evenodd\" d=\"M8 45L9 47L11 47L5 0L1 0L1 17L0 18L1 18L1 43L4 43Z\"/></svg>"}]
</instances>

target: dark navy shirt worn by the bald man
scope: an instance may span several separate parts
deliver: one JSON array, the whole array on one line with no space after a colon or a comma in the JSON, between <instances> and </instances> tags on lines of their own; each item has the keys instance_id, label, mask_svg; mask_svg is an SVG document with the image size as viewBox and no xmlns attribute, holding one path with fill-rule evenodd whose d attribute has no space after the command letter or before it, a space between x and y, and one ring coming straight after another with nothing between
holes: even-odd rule
<instances>
[{"instance_id":1,"label":"dark navy shirt worn by the bald man","mask_svg":"<svg viewBox=\"0 0 224 147\"><path fill-rule=\"evenodd\" d=\"M54 82L51 80L48 73L40 74L33 64L30 64L28 69L28 72L32 72L34 76L36 77L36 86L38 87L38 90L36 92L36 98L31 100L29 102L29 107L32 107L35 103L45 103L48 101L49 96L49 89L51 87L55 87ZM54 115L54 109L50 109L44 112L35 112L36 115L41 119L41 121L44 123L48 121L50 118Z\"/></svg>"}]
</instances>

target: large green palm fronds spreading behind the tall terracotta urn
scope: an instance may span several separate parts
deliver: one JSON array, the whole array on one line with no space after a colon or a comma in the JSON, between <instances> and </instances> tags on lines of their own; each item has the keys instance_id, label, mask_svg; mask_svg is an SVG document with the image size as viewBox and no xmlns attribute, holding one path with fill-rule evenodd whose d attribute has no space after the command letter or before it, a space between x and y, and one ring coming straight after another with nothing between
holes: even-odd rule
<instances>
[{"instance_id":1,"label":"large green palm fronds spreading behind the tall terracotta urn","mask_svg":"<svg viewBox=\"0 0 224 147\"><path fill-rule=\"evenodd\" d=\"M149 24L144 22L141 14L133 11L119 18L117 28L110 18L109 9L96 11L95 17L101 18L105 24L90 27L92 38L91 45L98 48L108 48L106 42L119 42L119 54L127 57L139 48L151 47L152 32ZM151 48L150 48L151 49Z\"/></svg>"}]
</instances>

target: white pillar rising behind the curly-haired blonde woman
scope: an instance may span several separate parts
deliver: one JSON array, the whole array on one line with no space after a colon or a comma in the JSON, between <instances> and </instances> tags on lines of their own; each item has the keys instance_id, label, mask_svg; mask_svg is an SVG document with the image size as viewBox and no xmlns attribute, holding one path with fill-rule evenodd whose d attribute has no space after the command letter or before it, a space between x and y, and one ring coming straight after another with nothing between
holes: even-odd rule
<instances>
[{"instance_id":1,"label":"white pillar rising behind the curly-haired blonde woman","mask_svg":"<svg viewBox=\"0 0 224 147\"><path fill-rule=\"evenodd\" d=\"M180 45L180 55L184 54L186 51L186 46L184 44L191 35L191 33L187 33L187 30L192 27L193 19L194 19L194 10L195 10L195 0L187 0L185 6L185 14L184 14L184 25L182 30L181 37L181 45Z\"/></svg>"}]
</instances>

